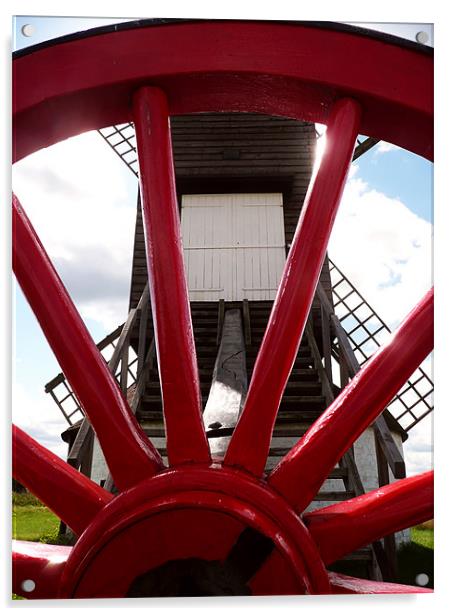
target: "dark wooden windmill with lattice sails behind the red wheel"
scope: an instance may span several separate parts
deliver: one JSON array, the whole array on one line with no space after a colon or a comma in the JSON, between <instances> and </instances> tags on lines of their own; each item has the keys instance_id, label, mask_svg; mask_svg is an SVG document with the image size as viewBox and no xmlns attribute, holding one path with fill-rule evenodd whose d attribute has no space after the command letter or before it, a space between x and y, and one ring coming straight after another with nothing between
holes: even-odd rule
<instances>
[{"instance_id":1,"label":"dark wooden windmill with lattice sails behind the red wheel","mask_svg":"<svg viewBox=\"0 0 452 616\"><path fill-rule=\"evenodd\" d=\"M308 122L238 113L173 117L171 130L203 406L205 413L208 408L212 409L212 405L215 408L218 404L220 407L230 405L233 409L227 425L210 422L214 429L210 428L209 442L211 448L221 455L240 415L284 261L302 211L313 173L317 135L314 124ZM102 129L100 134L130 171L138 176L133 125ZM368 139L357 144L355 157L364 154L376 142ZM129 372L126 380L123 369L122 378L124 391L137 418L165 456L162 400L155 357L152 367L148 362L148 368L143 372L143 354L149 350L152 354L154 344L151 310L148 303L145 308L140 307L143 294L146 297L148 293L147 284L145 233L138 194L129 310L138 309L140 314L129 332ZM341 327L349 341L347 350L353 353L357 367L378 348L382 334L388 332L376 312L328 256L320 273L319 285L323 293L315 296L309 331L303 336L281 401L266 472L270 472L288 453L352 376L331 322L332 314L337 316L335 308L345 326L349 324L350 335L344 326ZM358 316L352 306L361 309ZM232 334L226 333L229 337L232 335L233 340L229 355L224 355L220 354L220 345L228 314L238 319L238 328ZM115 341L115 336L117 340L120 331L119 327L112 332L101 346L112 338ZM238 365L237 356L242 358ZM223 364L220 376L217 370L219 360ZM236 362L232 382L228 381L228 362L231 361ZM139 376L144 379L142 391L137 396ZM46 389L52 391L62 378L62 375L57 377ZM121 379L121 372L118 378ZM431 383L421 370L418 370L417 379L423 381L430 391ZM230 395L232 400L227 394L226 399L222 399L221 394L220 400L217 399L215 388L218 389L219 381L226 382L223 389L226 388L229 394L233 392ZM408 432L403 426L411 429L430 412L431 407L422 396L411 403L414 408L407 407L404 400L412 395L413 388L407 384L404 389L403 397L393 402L392 412L384 412L380 429L375 426L368 428L355 442L350 453L358 477L351 477L352 471L342 461L324 482L308 511L341 502L362 491L369 492L405 476L403 442ZM210 401L209 396L212 396ZM77 408L80 407L77 405ZM77 414L74 419L76 417ZM79 452L79 443L76 442L79 426L80 420L63 434L69 444L70 459ZM206 429L209 431L209 422ZM215 436L216 433L221 435ZM394 456L392 468L379 439L390 443ZM78 454L76 464L83 466L94 481L104 485L109 472L97 439L92 439L85 451L83 457ZM387 539L390 556L394 556L396 544L400 546L407 540L408 531L397 533L395 542ZM372 577L379 575L371 549L362 550L352 558L366 563Z\"/></svg>"}]
</instances>

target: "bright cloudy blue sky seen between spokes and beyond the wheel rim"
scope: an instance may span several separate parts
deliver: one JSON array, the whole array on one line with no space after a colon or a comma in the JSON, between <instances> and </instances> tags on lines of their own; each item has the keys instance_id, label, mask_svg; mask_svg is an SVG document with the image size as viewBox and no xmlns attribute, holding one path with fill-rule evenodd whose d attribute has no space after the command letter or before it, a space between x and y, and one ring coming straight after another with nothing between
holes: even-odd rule
<instances>
[{"instance_id":1,"label":"bright cloudy blue sky seen between spokes and beyond the wheel rim","mask_svg":"<svg viewBox=\"0 0 452 616\"><path fill-rule=\"evenodd\" d=\"M21 48L57 34L103 25L106 21L20 17L15 23L15 45ZM25 24L35 26L33 37L22 35ZM419 27L409 29L412 36ZM433 38L429 26L422 26L422 30ZM70 161L67 167L62 160L65 157ZM75 177L68 176L69 168ZM49 183L46 185L42 178L49 173L67 183L63 196L52 194L47 198ZM331 256L390 326L405 316L431 284L432 180L430 163L400 148L380 144L353 165L335 225ZM136 178L101 137L92 133L19 163L13 188L74 295L93 338L101 339L126 318ZM67 205L64 215L59 207L61 199ZM77 217L79 210L91 213L92 203L99 204L99 199L102 201L99 217L108 216L111 223L104 251L98 245L96 229L85 228ZM106 209L111 203L112 213ZM374 218L376 212L378 220ZM354 248L341 238L344 230L358 220L360 237ZM87 275L93 278L93 270L101 281L99 289L107 291L105 298L96 289L90 290L91 295L83 289ZM43 393L45 383L59 372L59 367L20 289L15 301L18 393L14 418L44 444L64 455L65 446L59 440L59 432L65 423L50 397ZM42 430L43 418L48 422L47 431ZM423 449L422 455L412 454L412 470L429 467L430 422L425 422L419 435L415 435L413 451L414 446Z\"/></svg>"}]
</instances>

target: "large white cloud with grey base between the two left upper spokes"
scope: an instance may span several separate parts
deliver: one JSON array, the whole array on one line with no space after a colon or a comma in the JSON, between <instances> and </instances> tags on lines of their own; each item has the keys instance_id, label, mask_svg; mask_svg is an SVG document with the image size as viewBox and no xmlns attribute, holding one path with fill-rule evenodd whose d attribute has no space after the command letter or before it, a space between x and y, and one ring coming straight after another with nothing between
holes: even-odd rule
<instances>
[{"instance_id":1,"label":"large white cloud with grey base between the two left upper spokes","mask_svg":"<svg viewBox=\"0 0 452 616\"><path fill-rule=\"evenodd\" d=\"M20 161L13 187L82 316L123 322L137 187L123 162L86 133Z\"/></svg>"}]
</instances>

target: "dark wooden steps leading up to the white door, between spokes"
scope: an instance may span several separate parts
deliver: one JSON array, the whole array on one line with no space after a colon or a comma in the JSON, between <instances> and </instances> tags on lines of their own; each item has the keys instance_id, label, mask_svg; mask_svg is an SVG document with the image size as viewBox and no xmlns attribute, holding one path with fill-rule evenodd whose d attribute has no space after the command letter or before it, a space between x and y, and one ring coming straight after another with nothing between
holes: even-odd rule
<instances>
[{"instance_id":1,"label":"dark wooden steps leading up to the white door, between spokes","mask_svg":"<svg viewBox=\"0 0 452 616\"><path fill-rule=\"evenodd\" d=\"M212 383L212 373L221 337L222 311L240 308L244 325L248 321L246 368L249 382L271 307L271 301L249 302L246 310L243 309L243 304L239 302L226 302L223 306L218 302L191 303L203 407L205 407ZM266 473L270 472L290 451L298 439L322 414L326 406L327 402L322 390L319 367L316 363L315 352L312 349L312 340L310 343L309 337L305 333L281 400L265 468ZM166 462L162 399L156 368L150 371L147 378L146 388L137 408L137 418ZM211 435L215 436L215 434L215 431L212 431ZM327 481L309 509L317 509L354 496L356 496L356 492L353 490L350 470L345 464L341 464L330 472ZM339 565L339 567L342 567L341 570L343 570L344 561L346 567L352 567L350 572L358 571L361 575L373 577L371 570L374 566L374 557L370 547L347 555Z\"/></svg>"}]
</instances>

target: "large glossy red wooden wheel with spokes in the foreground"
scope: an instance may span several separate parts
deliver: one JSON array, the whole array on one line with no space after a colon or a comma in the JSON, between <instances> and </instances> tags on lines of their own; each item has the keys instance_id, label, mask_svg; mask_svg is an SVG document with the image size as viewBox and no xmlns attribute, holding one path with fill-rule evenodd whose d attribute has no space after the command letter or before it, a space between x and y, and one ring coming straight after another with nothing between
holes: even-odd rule
<instances>
[{"instance_id":1,"label":"large glossy red wooden wheel with spokes in the foreground","mask_svg":"<svg viewBox=\"0 0 452 616\"><path fill-rule=\"evenodd\" d=\"M315 24L138 22L16 55L14 160L86 130L135 123L170 466L132 416L13 197L16 277L119 489L113 497L15 428L14 476L79 536L74 548L15 542L15 592L187 594L180 581L187 576L199 594L423 592L326 567L431 518L432 473L300 513L431 351L432 291L268 477L263 469L357 134L431 157L432 78L432 57L419 46ZM224 460L214 462L202 423L168 122L170 114L201 111L328 125L243 413ZM240 550L253 532L264 540L262 553L244 570ZM162 579L173 581L169 589ZM206 579L213 580L208 588Z\"/></svg>"}]
</instances>

